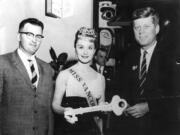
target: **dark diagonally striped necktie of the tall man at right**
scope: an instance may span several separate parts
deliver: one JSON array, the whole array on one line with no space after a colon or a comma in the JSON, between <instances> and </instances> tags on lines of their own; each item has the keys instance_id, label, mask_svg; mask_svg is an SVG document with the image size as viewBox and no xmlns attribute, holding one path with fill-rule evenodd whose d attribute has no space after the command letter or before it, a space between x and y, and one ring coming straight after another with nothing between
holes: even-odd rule
<instances>
[{"instance_id":1,"label":"dark diagonally striped necktie of the tall man at right","mask_svg":"<svg viewBox=\"0 0 180 135\"><path fill-rule=\"evenodd\" d=\"M140 93L140 95L142 95L144 92L144 84L146 81L146 74L147 74L146 54L147 54L147 52L144 51L143 60L141 63L141 69L140 69L140 73L139 73L139 93Z\"/></svg>"}]
</instances>

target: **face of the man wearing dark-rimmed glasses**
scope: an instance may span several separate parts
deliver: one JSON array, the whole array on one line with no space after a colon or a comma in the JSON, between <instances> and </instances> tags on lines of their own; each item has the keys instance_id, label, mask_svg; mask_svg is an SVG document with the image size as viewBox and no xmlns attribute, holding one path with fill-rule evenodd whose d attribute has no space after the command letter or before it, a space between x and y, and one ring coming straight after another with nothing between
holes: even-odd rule
<instances>
[{"instance_id":1,"label":"face of the man wearing dark-rimmed glasses","mask_svg":"<svg viewBox=\"0 0 180 135\"><path fill-rule=\"evenodd\" d=\"M34 35L42 35L43 30L40 26L27 23L20 30L20 32L30 32ZM41 40L39 41L35 37L31 39L27 34L24 33L18 34L18 40L20 49L28 55L35 54L41 44Z\"/></svg>"}]
</instances>

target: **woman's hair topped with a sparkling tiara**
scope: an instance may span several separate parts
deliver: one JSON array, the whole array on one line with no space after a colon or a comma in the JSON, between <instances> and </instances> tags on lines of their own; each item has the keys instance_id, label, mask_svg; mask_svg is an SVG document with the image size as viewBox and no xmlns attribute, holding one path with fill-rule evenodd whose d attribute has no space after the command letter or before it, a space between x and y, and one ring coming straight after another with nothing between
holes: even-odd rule
<instances>
[{"instance_id":1,"label":"woman's hair topped with a sparkling tiara","mask_svg":"<svg viewBox=\"0 0 180 135\"><path fill-rule=\"evenodd\" d=\"M81 27L75 35L74 47L76 48L76 43L79 39L88 39L90 42L94 43L95 49L98 48L98 37L97 33L93 28Z\"/></svg>"}]
</instances>

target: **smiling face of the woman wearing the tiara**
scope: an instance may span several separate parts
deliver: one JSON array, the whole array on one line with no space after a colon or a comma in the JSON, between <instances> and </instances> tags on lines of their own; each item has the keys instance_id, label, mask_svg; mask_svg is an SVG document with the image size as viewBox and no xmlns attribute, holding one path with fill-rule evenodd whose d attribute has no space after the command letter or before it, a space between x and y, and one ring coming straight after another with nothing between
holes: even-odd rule
<instances>
[{"instance_id":1,"label":"smiling face of the woman wearing the tiara","mask_svg":"<svg viewBox=\"0 0 180 135\"><path fill-rule=\"evenodd\" d=\"M91 63L96 51L94 42L89 38L79 38L75 50L78 60L84 64Z\"/></svg>"}]
</instances>

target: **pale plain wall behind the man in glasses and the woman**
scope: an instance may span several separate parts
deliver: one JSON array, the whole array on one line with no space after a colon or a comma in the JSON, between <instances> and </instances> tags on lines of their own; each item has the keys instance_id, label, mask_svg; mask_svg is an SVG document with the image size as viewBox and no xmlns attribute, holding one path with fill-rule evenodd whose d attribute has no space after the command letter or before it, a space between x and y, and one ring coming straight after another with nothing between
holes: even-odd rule
<instances>
[{"instance_id":1,"label":"pale plain wall behind the man in glasses and the woman","mask_svg":"<svg viewBox=\"0 0 180 135\"><path fill-rule=\"evenodd\" d=\"M64 0L67 1L67 0ZM0 0L0 54L14 51L18 47L17 31L19 22L28 17L36 17L44 22L43 43L37 56L49 62L49 48L57 55L67 52L74 58L74 35L81 26L93 25L93 0L68 0L72 15L64 18L45 16L45 0Z\"/></svg>"}]
</instances>

